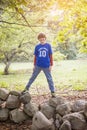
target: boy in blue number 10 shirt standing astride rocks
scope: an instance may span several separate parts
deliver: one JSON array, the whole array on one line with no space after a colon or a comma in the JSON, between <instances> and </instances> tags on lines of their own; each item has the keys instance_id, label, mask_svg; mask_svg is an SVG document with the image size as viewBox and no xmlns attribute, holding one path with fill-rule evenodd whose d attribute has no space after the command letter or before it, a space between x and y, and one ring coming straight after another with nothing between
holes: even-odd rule
<instances>
[{"instance_id":1,"label":"boy in blue number 10 shirt standing astride rocks","mask_svg":"<svg viewBox=\"0 0 87 130\"><path fill-rule=\"evenodd\" d=\"M34 51L33 74L25 89L22 91L22 94L29 90L31 84L42 70L47 78L51 95L55 97L54 83L51 76L51 68L53 65L52 48L49 43L46 43L46 35L44 33L38 35L38 40L40 43L36 45Z\"/></svg>"}]
</instances>

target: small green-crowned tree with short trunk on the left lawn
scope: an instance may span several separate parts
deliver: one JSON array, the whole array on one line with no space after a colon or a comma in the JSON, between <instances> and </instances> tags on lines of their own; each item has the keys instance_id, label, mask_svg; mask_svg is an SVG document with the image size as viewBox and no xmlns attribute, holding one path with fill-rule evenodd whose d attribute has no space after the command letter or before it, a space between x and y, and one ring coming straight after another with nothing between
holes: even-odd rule
<instances>
[{"instance_id":1,"label":"small green-crowned tree with short trunk on the left lawn","mask_svg":"<svg viewBox=\"0 0 87 130\"><path fill-rule=\"evenodd\" d=\"M31 42L27 42L28 39L26 39L25 35L23 37L20 32L21 30L18 31L12 28L0 29L0 59L5 64L4 74L9 74L9 66L17 54L23 54L29 58L32 53L31 47L33 45L31 46ZM28 51L28 48L31 50Z\"/></svg>"}]
</instances>

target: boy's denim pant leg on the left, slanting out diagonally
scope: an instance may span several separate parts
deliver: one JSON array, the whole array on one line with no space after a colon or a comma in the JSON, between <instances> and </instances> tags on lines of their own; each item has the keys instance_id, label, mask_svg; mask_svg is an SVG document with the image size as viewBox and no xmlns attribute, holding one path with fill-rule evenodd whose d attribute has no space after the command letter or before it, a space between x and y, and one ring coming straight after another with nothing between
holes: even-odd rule
<instances>
[{"instance_id":1,"label":"boy's denim pant leg on the left, slanting out diagonally","mask_svg":"<svg viewBox=\"0 0 87 130\"><path fill-rule=\"evenodd\" d=\"M40 73L41 71L41 68L36 66L34 71L33 71L33 74L31 76L31 78L29 79L27 85L26 85L26 89L29 89L31 84L33 83L33 81L36 79L36 77L38 76L38 74Z\"/></svg>"}]
</instances>

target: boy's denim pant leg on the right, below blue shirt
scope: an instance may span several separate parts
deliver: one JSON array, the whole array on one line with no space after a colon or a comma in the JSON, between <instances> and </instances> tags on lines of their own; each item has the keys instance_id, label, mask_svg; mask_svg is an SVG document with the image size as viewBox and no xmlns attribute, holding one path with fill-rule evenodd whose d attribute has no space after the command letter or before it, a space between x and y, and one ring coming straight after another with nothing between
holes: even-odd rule
<instances>
[{"instance_id":1,"label":"boy's denim pant leg on the right, below blue shirt","mask_svg":"<svg viewBox=\"0 0 87 130\"><path fill-rule=\"evenodd\" d=\"M51 92L54 92L54 83L53 83L53 79L52 79L52 75L51 75L51 72L49 70L49 68L43 68L42 69L43 72L45 73L45 76L47 78L47 82L49 84L49 89Z\"/></svg>"}]
</instances>

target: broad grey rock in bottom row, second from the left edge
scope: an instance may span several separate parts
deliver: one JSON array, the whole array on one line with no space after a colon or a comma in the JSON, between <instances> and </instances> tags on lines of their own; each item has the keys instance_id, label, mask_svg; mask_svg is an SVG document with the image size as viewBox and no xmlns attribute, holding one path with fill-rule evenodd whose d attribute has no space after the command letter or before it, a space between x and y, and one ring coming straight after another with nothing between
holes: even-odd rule
<instances>
[{"instance_id":1,"label":"broad grey rock in bottom row, second from the left edge","mask_svg":"<svg viewBox=\"0 0 87 130\"><path fill-rule=\"evenodd\" d=\"M14 109L10 111L10 120L14 121L15 123L20 123L28 119L28 116L19 109Z\"/></svg>"}]
</instances>

